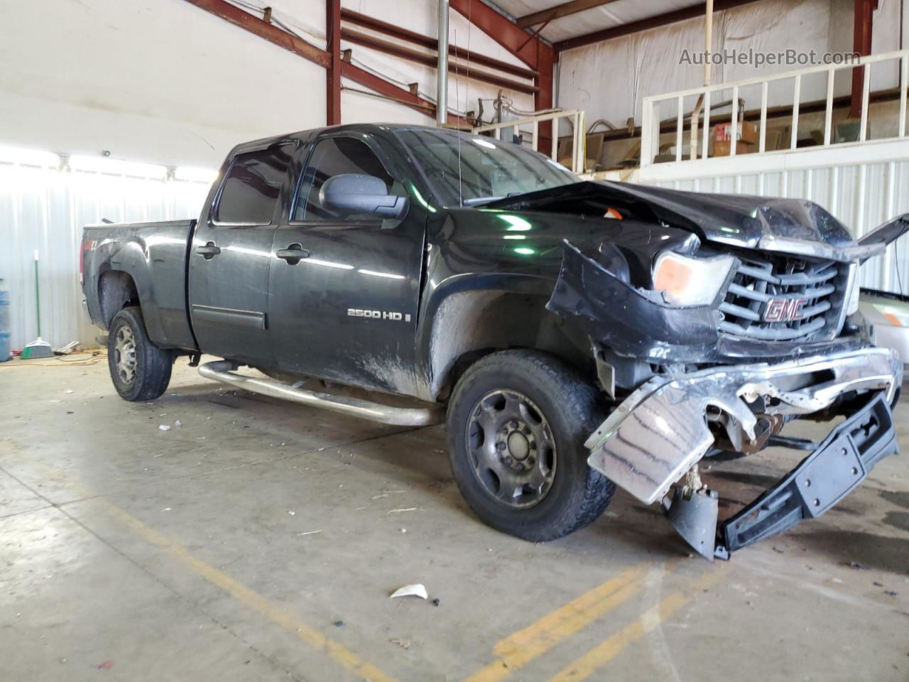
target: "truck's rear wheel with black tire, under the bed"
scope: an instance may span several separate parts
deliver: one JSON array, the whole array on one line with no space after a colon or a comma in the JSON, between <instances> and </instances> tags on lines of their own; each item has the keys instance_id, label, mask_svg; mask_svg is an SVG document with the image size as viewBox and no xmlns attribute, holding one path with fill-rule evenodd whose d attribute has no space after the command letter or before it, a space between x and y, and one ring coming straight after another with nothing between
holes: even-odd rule
<instances>
[{"instance_id":1,"label":"truck's rear wheel with black tire, under the bed","mask_svg":"<svg viewBox=\"0 0 909 682\"><path fill-rule=\"evenodd\" d=\"M132 351L124 344L127 335L132 340ZM121 352L121 348L126 352ZM131 361L123 363L124 358L130 356ZM149 340L138 307L124 308L114 316L107 336L107 367L120 397L139 401L162 396L170 383L173 366L173 351L162 350Z\"/></svg>"}]
</instances>

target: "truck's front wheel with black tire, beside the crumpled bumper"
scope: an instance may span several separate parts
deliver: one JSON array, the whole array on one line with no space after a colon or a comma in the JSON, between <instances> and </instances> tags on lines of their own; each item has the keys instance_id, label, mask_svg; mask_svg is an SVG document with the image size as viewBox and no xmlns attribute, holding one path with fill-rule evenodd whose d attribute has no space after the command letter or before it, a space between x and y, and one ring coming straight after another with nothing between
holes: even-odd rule
<instances>
[{"instance_id":1,"label":"truck's front wheel with black tire, beside the crumpled bumper","mask_svg":"<svg viewBox=\"0 0 909 682\"><path fill-rule=\"evenodd\" d=\"M504 392L501 397L499 391ZM514 424L523 428L522 420L508 421L509 417L505 416L507 424L488 428L481 421L497 425L496 419L500 418L497 415L506 415L514 409L511 398L515 396L522 414L529 416L524 421L533 433L524 440L518 438L518 455L511 457L512 436L503 434ZM500 408L498 413L497 408ZM534 426L534 412L542 416L542 431L538 424ZM458 381L448 405L448 456L454 481L467 504L485 524L533 542L564 537L603 514L615 491L612 481L587 465L588 453L584 448L584 440L603 418L603 397L556 358L527 350L484 356ZM498 439L488 449L486 431L493 432ZM526 429L522 433L526 434ZM543 436L536 437L538 433ZM528 446L524 443L532 437L535 440L529 447L536 457L528 456ZM504 449L497 449L504 443L503 438L507 444ZM498 461L487 464L490 457L498 452L511 460L508 466L527 466L527 462L533 465L534 459L537 462L544 459L547 443L554 444L554 466L548 488L546 484L540 488L541 491L546 488L542 495L535 490L538 479L529 486L529 492L509 493L512 485L508 484L503 492L502 481L514 480L510 476L512 469L499 472L504 465ZM520 455L523 458L518 463L516 458ZM545 470L549 470L548 466ZM498 473L504 473L504 477L500 479ZM523 469L519 473L527 476ZM541 476L539 472L534 475ZM525 496L529 496L529 504L518 507Z\"/></svg>"}]
</instances>

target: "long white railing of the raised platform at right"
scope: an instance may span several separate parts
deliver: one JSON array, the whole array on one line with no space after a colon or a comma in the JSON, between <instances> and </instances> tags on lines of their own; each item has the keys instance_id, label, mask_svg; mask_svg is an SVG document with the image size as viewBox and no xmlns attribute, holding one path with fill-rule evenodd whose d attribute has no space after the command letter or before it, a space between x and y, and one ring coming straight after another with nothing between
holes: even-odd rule
<instances>
[{"instance_id":1,"label":"long white railing of the raised platform at right","mask_svg":"<svg viewBox=\"0 0 909 682\"><path fill-rule=\"evenodd\" d=\"M871 67L874 64L883 62L896 62L900 65L900 108L899 123L896 135L888 139L904 138L906 133L906 91L909 90L909 49L897 52L888 52L882 55L870 55L861 57L855 62L848 64L832 64L821 66L810 66L795 71L787 71L780 74L758 76L747 78L730 83L721 83L717 85L701 85L699 87L679 90L674 93L665 95L653 95L644 97L644 111L641 120L641 168L654 163L654 157L659 150L660 140L660 104L667 101L675 100L678 106L675 127L675 161L682 161L683 133L684 133L684 99L685 97L697 96L698 102L694 107L691 115L691 136L690 136L690 160L698 158L707 158L709 152L709 131L710 131L710 107L711 95L727 90L732 90L732 115L730 121L730 141L729 156L736 154L738 141L738 127L735 125L739 119L739 91L749 85L761 86L761 125L758 138L757 151L761 154L766 152L766 134L767 134L767 92L771 83L792 80L793 86L793 113L792 113L792 131L787 149L774 150L780 152L790 152L796 147L798 141L798 118L799 118L799 97L801 95L802 79L805 75L827 74L826 84L826 108L824 113L824 145L832 144L832 123L834 113L834 77L838 71L844 69L861 68L864 72L864 86L862 90L862 115L860 121L858 142L864 142L868 135L868 100L870 95L871 84ZM704 122L700 125L700 135L698 133L700 112L704 113ZM700 149L700 152L698 151ZM772 154L773 152L767 152Z\"/></svg>"}]
</instances>

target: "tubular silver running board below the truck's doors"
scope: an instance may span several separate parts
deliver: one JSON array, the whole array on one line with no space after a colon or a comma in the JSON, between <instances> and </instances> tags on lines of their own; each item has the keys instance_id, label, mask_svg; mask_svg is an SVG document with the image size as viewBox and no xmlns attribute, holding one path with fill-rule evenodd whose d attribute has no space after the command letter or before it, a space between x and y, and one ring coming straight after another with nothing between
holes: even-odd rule
<instances>
[{"instance_id":1,"label":"tubular silver running board below the truck's doors","mask_svg":"<svg viewBox=\"0 0 909 682\"><path fill-rule=\"evenodd\" d=\"M330 393L309 391L305 388L283 384L263 376L236 374L236 363L216 360L199 366L199 374L222 384L243 388L252 393L272 396L311 407L322 407L342 415L391 424L393 426L432 426L441 424L445 409L439 407L394 407L351 396L334 396Z\"/></svg>"}]
</instances>

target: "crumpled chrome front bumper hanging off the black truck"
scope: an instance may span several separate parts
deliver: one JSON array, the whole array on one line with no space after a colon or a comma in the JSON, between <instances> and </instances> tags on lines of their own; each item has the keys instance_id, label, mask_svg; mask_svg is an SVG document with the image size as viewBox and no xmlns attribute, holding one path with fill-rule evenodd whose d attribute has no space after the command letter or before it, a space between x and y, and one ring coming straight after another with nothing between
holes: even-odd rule
<instances>
[{"instance_id":1,"label":"crumpled chrome front bumper hanging off the black truck","mask_svg":"<svg viewBox=\"0 0 909 682\"><path fill-rule=\"evenodd\" d=\"M750 405L768 415L808 415L850 391L883 391L889 405L903 366L888 348L863 348L777 365L716 366L655 377L638 388L587 439L590 466L652 504L707 452L708 410L756 438Z\"/></svg>"}]
</instances>

